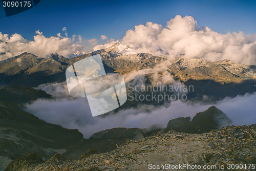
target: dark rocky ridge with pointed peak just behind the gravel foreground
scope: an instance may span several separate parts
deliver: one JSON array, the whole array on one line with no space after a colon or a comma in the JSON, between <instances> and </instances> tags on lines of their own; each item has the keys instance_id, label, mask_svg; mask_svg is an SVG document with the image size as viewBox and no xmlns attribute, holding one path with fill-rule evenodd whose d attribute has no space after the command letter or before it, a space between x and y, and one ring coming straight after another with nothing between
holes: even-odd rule
<instances>
[{"instance_id":1,"label":"dark rocky ridge with pointed peak just behind the gravel foreground","mask_svg":"<svg viewBox=\"0 0 256 171\"><path fill-rule=\"evenodd\" d=\"M180 122L182 120L182 122ZM190 121L192 120L192 121ZM193 119L190 117L176 118L168 122L165 129L139 129L117 127L104 130L93 134L89 139L83 139L78 144L65 148L67 158L78 160L81 155L89 149L96 149L98 152L105 153L116 149L116 144L120 145L126 140L140 140L152 136L158 131L168 132L175 130L184 133L204 133L211 130L220 129L221 126L231 125L233 122L215 106L210 106L206 111L197 113Z\"/></svg>"}]
</instances>

